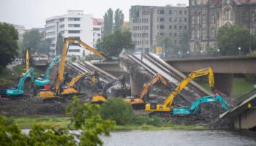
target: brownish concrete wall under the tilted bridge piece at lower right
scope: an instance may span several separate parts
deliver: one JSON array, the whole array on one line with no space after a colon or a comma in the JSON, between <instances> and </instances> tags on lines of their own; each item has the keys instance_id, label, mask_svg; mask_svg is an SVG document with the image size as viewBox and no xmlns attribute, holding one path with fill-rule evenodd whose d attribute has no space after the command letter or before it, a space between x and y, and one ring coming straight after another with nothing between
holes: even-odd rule
<instances>
[{"instance_id":1,"label":"brownish concrete wall under the tilted bridge piece at lower right","mask_svg":"<svg viewBox=\"0 0 256 146\"><path fill-rule=\"evenodd\" d=\"M238 129L249 129L256 126L256 109L246 110L243 114L238 115L235 120L235 127Z\"/></svg>"}]
</instances>

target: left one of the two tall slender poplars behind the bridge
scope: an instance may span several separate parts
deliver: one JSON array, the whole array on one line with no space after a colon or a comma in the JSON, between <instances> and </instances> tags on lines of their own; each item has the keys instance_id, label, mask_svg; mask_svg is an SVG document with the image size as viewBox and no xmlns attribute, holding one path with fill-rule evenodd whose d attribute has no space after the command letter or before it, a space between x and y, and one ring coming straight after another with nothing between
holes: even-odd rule
<instances>
[{"instance_id":1,"label":"left one of the two tall slender poplars behind the bridge","mask_svg":"<svg viewBox=\"0 0 256 146\"><path fill-rule=\"evenodd\" d=\"M104 18L104 35L110 35L113 31L113 10L110 8L105 12Z\"/></svg>"}]
</instances>

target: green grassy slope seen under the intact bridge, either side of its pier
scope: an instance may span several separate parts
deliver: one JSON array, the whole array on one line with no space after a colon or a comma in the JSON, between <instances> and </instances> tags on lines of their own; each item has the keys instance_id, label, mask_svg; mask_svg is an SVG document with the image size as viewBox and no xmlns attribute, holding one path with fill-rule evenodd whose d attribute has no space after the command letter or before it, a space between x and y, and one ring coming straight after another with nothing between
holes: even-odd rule
<instances>
[{"instance_id":1,"label":"green grassy slope seen under the intact bridge, either side of its pier","mask_svg":"<svg viewBox=\"0 0 256 146\"><path fill-rule=\"evenodd\" d=\"M201 77L195 80L199 85L202 85L208 91L211 91L208 85L207 77ZM244 94L252 91L255 85L254 74L246 74L246 77L234 77L233 78L233 97L234 99L243 96Z\"/></svg>"}]
</instances>

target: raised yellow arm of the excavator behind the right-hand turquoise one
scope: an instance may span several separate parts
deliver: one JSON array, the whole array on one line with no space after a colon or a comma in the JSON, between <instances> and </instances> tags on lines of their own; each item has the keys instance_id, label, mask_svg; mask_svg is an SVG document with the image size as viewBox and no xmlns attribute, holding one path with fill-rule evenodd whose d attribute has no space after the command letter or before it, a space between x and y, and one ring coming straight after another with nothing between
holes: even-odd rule
<instances>
[{"instance_id":1,"label":"raised yellow arm of the excavator behind the right-hand turquoise one","mask_svg":"<svg viewBox=\"0 0 256 146\"><path fill-rule=\"evenodd\" d=\"M177 96L178 93L182 91L182 89L193 79L196 77L201 77L208 75L208 83L211 88L214 87L214 73L212 72L211 68L206 69L200 69L198 71L190 73L184 80L181 81L181 83L178 85L178 87L175 89L175 91L171 92L167 99L164 101L164 105L169 105L172 107L173 99Z\"/></svg>"}]
</instances>

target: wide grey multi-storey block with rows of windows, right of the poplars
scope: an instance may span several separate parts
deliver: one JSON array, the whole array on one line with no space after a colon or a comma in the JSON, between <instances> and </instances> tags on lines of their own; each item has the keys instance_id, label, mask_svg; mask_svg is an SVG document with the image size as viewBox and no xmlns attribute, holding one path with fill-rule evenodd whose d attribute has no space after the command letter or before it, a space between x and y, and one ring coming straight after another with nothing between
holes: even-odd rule
<instances>
[{"instance_id":1,"label":"wide grey multi-storey block with rows of windows, right of the poplars","mask_svg":"<svg viewBox=\"0 0 256 146\"><path fill-rule=\"evenodd\" d=\"M137 50L154 52L157 36L170 35L176 47L188 30L188 10L185 4L132 6L129 10L129 30Z\"/></svg>"}]
</instances>

